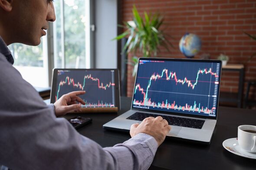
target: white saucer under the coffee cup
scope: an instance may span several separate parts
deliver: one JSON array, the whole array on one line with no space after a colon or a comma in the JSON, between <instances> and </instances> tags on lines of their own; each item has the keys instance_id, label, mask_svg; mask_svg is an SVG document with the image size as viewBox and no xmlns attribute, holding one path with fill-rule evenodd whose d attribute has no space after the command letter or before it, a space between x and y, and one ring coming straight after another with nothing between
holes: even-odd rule
<instances>
[{"instance_id":1,"label":"white saucer under the coffee cup","mask_svg":"<svg viewBox=\"0 0 256 170\"><path fill-rule=\"evenodd\" d=\"M241 157L247 157L250 159L256 159L256 154L243 151L239 147L237 138L226 139L225 141L223 141L222 145L226 150L230 151L233 154L239 155Z\"/></svg>"}]
</instances>

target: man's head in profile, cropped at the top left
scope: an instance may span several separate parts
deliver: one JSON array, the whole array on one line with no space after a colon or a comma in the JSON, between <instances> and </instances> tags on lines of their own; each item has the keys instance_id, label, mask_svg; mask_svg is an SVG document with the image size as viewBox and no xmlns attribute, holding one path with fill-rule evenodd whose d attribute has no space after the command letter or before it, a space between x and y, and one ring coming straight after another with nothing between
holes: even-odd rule
<instances>
[{"instance_id":1,"label":"man's head in profile, cropped at the top left","mask_svg":"<svg viewBox=\"0 0 256 170\"><path fill-rule=\"evenodd\" d=\"M39 45L49 22L55 21L53 0L0 0L0 36L14 42Z\"/></svg>"}]
</instances>

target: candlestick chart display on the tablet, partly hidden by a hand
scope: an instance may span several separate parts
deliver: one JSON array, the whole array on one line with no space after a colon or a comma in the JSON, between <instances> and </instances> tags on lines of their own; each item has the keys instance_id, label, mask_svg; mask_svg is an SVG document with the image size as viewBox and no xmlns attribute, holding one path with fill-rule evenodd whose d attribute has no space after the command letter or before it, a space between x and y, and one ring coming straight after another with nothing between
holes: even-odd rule
<instances>
[{"instance_id":1,"label":"candlestick chart display on the tablet, partly hidden by a hand","mask_svg":"<svg viewBox=\"0 0 256 170\"><path fill-rule=\"evenodd\" d=\"M56 84L58 100L62 95L84 90L80 95L85 105L82 107L115 107L114 71L59 70Z\"/></svg>"}]
</instances>

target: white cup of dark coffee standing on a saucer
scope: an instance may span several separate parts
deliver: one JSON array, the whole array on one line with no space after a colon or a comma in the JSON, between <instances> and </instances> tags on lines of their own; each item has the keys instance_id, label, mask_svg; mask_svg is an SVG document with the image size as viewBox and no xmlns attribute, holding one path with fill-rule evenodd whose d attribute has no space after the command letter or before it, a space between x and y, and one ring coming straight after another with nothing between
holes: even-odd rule
<instances>
[{"instance_id":1,"label":"white cup of dark coffee standing on a saucer","mask_svg":"<svg viewBox=\"0 0 256 170\"><path fill-rule=\"evenodd\" d=\"M246 152L256 153L256 126L238 126L238 144Z\"/></svg>"}]
</instances>

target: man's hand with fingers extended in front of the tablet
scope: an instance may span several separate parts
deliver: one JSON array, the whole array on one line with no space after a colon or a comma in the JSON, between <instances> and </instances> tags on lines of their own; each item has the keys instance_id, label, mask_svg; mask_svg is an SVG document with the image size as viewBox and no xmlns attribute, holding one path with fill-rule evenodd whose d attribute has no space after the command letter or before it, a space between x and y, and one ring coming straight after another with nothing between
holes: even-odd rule
<instances>
[{"instance_id":1,"label":"man's hand with fingers extended in front of the tablet","mask_svg":"<svg viewBox=\"0 0 256 170\"><path fill-rule=\"evenodd\" d=\"M55 107L55 115L65 115L71 111L81 111L81 103L85 105L83 99L79 95L85 94L85 91L74 91L64 94L53 105Z\"/></svg>"}]
</instances>

